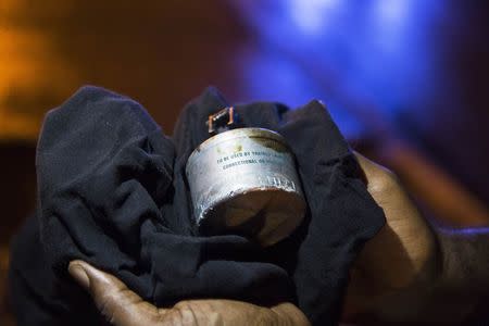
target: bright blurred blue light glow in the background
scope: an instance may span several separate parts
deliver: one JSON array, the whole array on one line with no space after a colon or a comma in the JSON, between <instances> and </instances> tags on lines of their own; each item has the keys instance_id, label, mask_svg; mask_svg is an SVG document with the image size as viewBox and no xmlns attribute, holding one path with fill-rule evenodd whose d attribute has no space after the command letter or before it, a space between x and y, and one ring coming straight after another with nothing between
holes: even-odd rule
<instances>
[{"instance_id":1,"label":"bright blurred blue light glow in the background","mask_svg":"<svg viewBox=\"0 0 489 326\"><path fill-rule=\"evenodd\" d=\"M423 33L440 0L237 3L259 43L243 66L250 99L298 105L323 98L337 103L329 105L336 116L369 111L389 120L437 87Z\"/></svg>"}]
</instances>

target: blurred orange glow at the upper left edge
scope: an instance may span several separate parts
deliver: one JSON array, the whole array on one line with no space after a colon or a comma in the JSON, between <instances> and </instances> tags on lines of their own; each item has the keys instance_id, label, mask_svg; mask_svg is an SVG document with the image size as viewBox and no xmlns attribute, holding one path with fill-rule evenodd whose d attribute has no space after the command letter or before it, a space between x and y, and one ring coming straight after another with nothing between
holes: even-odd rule
<instances>
[{"instance_id":1,"label":"blurred orange glow at the upper left edge","mask_svg":"<svg viewBox=\"0 0 489 326\"><path fill-rule=\"evenodd\" d=\"M27 2L0 1L0 139L36 139L47 109L36 108L39 92L63 98L78 82L49 34L17 24Z\"/></svg>"}]
</instances>

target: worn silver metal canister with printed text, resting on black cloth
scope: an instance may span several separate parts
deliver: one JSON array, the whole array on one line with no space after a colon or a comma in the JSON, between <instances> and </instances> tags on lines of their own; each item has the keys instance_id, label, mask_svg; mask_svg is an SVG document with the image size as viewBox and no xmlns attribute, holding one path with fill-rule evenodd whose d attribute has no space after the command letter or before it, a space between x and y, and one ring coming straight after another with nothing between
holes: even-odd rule
<instances>
[{"instance_id":1,"label":"worn silver metal canister with printed text, resting on black cloth","mask_svg":"<svg viewBox=\"0 0 489 326\"><path fill-rule=\"evenodd\" d=\"M192 152L186 173L204 235L239 234L266 247L290 235L304 216L293 154L275 131L217 134Z\"/></svg>"}]
</instances>

